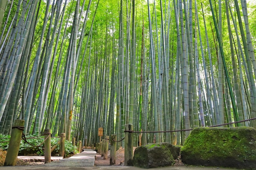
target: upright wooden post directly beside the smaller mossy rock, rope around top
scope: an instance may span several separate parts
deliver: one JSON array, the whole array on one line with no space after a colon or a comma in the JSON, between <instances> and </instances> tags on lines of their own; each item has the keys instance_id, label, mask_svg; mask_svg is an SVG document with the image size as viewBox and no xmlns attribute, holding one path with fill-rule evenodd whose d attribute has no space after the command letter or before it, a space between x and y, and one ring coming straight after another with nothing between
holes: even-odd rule
<instances>
[{"instance_id":1,"label":"upright wooden post directly beside the smaller mossy rock, rope around top","mask_svg":"<svg viewBox=\"0 0 256 170\"><path fill-rule=\"evenodd\" d=\"M133 159L133 134L129 132L133 130L132 124L127 124L124 126L124 166L132 166Z\"/></svg>"}]
</instances>

